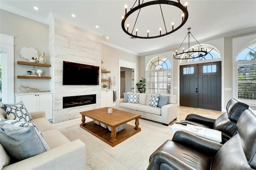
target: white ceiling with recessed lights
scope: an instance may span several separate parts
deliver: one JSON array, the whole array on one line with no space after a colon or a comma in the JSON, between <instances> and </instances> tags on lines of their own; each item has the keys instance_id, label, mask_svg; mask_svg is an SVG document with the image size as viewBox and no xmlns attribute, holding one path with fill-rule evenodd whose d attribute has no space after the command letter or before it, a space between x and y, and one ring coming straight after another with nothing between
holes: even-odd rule
<instances>
[{"instance_id":1,"label":"white ceiling with recessed lights","mask_svg":"<svg viewBox=\"0 0 256 170\"><path fill-rule=\"evenodd\" d=\"M134 2L135 0L1 0L0 8L45 24L49 24L53 16L101 36L104 44L136 55L178 47L189 27L199 42L256 30L256 0L181 0L182 4L188 2L188 21L182 28L168 36L134 40L125 34L121 27L121 17L125 13L124 5L127 4L129 9ZM34 6L39 10L34 10ZM168 14L164 16L166 27L170 27L173 22L169 21L168 16L174 16L170 20L180 20L176 21L177 23L181 22L182 13L172 6L168 7L170 8L163 7L163 14ZM148 27L158 25L155 23L162 20L162 16L157 17L159 13L152 15L152 12L158 11L159 7L154 6L148 10L144 13L141 10L139 17L144 18L138 19L138 22L142 21L143 25L148 24ZM71 14L76 17L73 18ZM129 29L132 29L132 24L129 24ZM96 25L99 28L96 28ZM164 28L157 26L157 32L159 27ZM143 32L146 35L146 30ZM154 34L154 31L151 30L150 34ZM106 39L107 36L109 39Z\"/></svg>"}]
</instances>

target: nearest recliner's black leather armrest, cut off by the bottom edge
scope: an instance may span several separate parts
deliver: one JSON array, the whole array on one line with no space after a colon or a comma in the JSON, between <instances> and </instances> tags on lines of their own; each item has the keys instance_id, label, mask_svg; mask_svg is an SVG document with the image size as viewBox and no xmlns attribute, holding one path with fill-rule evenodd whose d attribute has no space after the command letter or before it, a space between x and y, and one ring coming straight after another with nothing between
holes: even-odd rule
<instances>
[{"instance_id":1,"label":"nearest recliner's black leather armrest, cut off by the bottom edge","mask_svg":"<svg viewBox=\"0 0 256 170\"><path fill-rule=\"evenodd\" d=\"M184 164L176 157L167 152L158 151L150 161L147 170L161 170L161 169L175 169L175 170L194 170L194 168Z\"/></svg>"}]
</instances>

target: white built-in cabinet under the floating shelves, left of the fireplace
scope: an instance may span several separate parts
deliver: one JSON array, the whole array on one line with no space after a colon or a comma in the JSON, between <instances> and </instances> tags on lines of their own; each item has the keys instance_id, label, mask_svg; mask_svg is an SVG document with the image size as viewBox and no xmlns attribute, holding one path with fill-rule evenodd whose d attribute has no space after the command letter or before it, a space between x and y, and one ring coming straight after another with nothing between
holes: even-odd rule
<instances>
[{"instance_id":1,"label":"white built-in cabinet under the floating shelves, left of the fireplace","mask_svg":"<svg viewBox=\"0 0 256 170\"><path fill-rule=\"evenodd\" d=\"M52 93L19 93L15 96L16 102L22 101L28 112L45 111L46 119L52 119Z\"/></svg>"}]
</instances>

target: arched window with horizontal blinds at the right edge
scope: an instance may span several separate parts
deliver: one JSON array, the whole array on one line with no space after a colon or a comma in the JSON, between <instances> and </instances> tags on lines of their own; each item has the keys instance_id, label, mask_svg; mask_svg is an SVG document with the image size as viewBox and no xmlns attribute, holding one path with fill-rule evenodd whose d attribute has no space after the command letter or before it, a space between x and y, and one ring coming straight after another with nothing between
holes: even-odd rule
<instances>
[{"instance_id":1,"label":"arched window with horizontal blinds at the right edge","mask_svg":"<svg viewBox=\"0 0 256 170\"><path fill-rule=\"evenodd\" d=\"M256 100L256 40L236 57L238 99Z\"/></svg>"}]
</instances>

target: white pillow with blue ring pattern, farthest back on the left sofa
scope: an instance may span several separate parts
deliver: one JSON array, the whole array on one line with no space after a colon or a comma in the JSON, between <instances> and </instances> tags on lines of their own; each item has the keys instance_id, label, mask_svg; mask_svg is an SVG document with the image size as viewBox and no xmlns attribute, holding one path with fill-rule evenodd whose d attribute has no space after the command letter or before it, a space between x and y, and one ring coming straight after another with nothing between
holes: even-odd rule
<instances>
[{"instance_id":1,"label":"white pillow with blue ring pattern, farthest back on the left sofa","mask_svg":"<svg viewBox=\"0 0 256 170\"><path fill-rule=\"evenodd\" d=\"M13 119L16 121L28 122L29 116L27 113L27 109L24 105L18 104L15 106L6 108L6 118Z\"/></svg>"}]
</instances>

